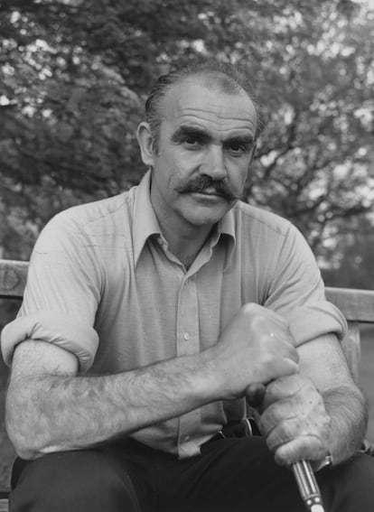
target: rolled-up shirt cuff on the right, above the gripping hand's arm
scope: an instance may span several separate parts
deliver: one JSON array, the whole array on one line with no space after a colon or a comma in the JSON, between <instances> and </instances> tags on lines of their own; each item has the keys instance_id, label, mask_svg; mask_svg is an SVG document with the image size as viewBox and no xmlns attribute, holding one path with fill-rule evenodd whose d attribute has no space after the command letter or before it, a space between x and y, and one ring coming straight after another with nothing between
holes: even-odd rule
<instances>
[{"instance_id":1,"label":"rolled-up shirt cuff on the right, above the gripping hand's arm","mask_svg":"<svg viewBox=\"0 0 374 512\"><path fill-rule=\"evenodd\" d=\"M287 319L297 347L329 333L342 340L348 330L341 312L327 301L297 307L287 314Z\"/></svg>"}]
</instances>

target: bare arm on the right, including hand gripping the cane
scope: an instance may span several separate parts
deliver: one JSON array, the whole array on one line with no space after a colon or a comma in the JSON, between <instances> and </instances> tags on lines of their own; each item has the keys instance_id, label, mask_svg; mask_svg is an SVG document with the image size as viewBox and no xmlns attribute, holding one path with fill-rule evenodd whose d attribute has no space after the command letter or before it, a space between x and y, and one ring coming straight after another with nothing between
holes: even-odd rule
<instances>
[{"instance_id":1,"label":"bare arm on the right, including hand gripping the cane","mask_svg":"<svg viewBox=\"0 0 374 512\"><path fill-rule=\"evenodd\" d=\"M330 451L338 464L360 448L367 426L365 401L333 335L298 350L300 375L266 389L261 429L279 463L318 461Z\"/></svg>"}]
</instances>

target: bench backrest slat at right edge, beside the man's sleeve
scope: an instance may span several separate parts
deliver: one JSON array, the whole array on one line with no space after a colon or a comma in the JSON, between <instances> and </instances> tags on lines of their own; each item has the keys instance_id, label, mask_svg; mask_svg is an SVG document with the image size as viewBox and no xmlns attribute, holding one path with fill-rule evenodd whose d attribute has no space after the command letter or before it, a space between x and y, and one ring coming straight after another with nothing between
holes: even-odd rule
<instances>
[{"instance_id":1,"label":"bench backrest slat at right edge, beside the man's sleeve","mask_svg":"<svg viewBox=\"0 0 374 512\"><path fill-rule=\"evenodd\" d=\"M327 287L326 297L348 321L374 323L374 291Z\"/></svg>"}]
</instances>

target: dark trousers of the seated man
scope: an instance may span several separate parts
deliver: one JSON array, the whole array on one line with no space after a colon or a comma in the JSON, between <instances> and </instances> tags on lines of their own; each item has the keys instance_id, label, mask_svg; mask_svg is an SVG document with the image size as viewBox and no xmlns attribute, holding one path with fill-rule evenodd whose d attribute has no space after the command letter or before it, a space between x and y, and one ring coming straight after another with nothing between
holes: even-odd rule
<instances>
[{"instance_id":1,"label":"dark trousers of the seated man","mask_svg":"<svg viewBox=\"0 0 374 512\"><path fill-rule=\"evenodd\" d=\"M374 510L374 458L317 473L327 512ZM179 461L131 440L14 463L11 512L304 512L290 470L260 437L220 439Z\"/></svg>"}]
</instances>

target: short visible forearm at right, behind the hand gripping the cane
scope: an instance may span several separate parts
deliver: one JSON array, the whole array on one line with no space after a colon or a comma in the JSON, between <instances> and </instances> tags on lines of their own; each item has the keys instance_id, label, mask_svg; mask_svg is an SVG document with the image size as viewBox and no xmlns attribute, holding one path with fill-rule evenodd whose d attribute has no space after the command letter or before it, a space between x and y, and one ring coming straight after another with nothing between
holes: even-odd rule
<instances>
[{"instance_id":1,"label":"short visible forearm at right, behind the hand gripping the cane","mask_svg":"<svg viewBox=\"0 0 374 512\"><path fill-rule=\"evenodd\" d=\"M358 388L341 386L323 393L326 411L331 417L329 447L335 464L351 458L360 449L368 414Z\"/></svg>"}]
</instances>

